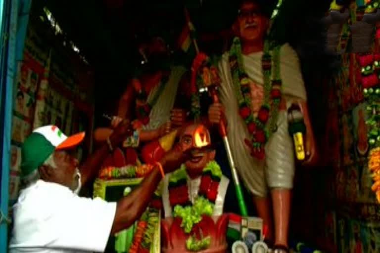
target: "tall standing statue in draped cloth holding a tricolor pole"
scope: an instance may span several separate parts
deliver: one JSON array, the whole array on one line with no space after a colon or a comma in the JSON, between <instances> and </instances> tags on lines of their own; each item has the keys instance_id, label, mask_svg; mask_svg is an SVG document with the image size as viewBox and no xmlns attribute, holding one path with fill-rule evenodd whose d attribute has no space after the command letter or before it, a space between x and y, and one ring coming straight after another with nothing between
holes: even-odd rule
<instances>
[{"instance_id":1,"label":"tall standing statue in draped cloth holding a tricolor pole","mask_svg":"<svg viewBox=\"0 0 380 253\"><path fill-rule=\"evenodd\" d=\"M293 187L293 143L288 133L286 109L302 108L307 150L312 139L306 107L306 91L296 52L289 44L274 49L265 42L269 15L266 1L243 0L233 25L236 38L219 65L222 104L209 108L209 121L228 121L228 139L237 169L264 224L267 239L275 239L275 252L288 252L287 232L290 190ZM283 95L282 95L283 94ZM308 153L308 152L307 152ZM309 152L308 160L313 158ZM268 190L272 195L272 203ZM270 209L271 204L273 209ZM272 210L275 235L272 232Z\"/></svg>"}]
</instances>

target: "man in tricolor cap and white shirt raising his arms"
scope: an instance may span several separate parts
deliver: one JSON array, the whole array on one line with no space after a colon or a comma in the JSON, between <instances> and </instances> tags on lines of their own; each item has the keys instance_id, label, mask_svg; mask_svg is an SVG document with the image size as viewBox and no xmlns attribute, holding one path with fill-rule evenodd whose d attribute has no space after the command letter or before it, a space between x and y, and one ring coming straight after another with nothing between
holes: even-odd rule
<instances>
[{"instance_id":1,"label":"man in tricolor cap and white shirt raising his arms","mask_svg":"<svg viewBox=\"0 0 380 253\"><path fill-rule=\"evenodd\" d=\"M56 126L37 128L22 146L23 178L28 183L13 207L11 253L103 252L110 234L132 225L146 209L165 172L185 161L180 146L166 153L140 187L117 203L77 195L80 186L93 178L109 149L131 133L121 123L107 144L78 168L70 155L85 134L65 136Z\"/></svg>"}]
</instances>

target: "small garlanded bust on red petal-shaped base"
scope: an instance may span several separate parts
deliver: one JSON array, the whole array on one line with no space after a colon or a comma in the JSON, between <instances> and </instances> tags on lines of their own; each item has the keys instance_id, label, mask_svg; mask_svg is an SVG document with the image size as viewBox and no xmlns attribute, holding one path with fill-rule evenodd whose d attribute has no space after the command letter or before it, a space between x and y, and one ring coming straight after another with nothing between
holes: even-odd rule
<instances>
[{"instance_id":1,"label":"small garlanded bust on red petal-shaped base","mask_svg":"<svg viewBox=\"0 0 380 253\"><path fill-rule=\"evenodd\" d=\"M201 124L191 125L180 145L191 159L163 181L162 252L225 252L228 216L223 205L229 179L214 161L210 133Z\"/></svg>"}]
</instances>

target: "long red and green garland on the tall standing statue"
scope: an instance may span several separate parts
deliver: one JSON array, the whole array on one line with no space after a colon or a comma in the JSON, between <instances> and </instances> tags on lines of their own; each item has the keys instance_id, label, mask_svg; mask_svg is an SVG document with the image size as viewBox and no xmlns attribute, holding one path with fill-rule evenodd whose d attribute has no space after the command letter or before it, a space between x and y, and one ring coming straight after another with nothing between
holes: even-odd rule
<instances>
[{"instance_id":1,"label":"long red and green garland on the tall standing statue","mask_svg":"<svg viewBox=\"0 0 380 253\"><path fill-rule=\"evenodd\" d=\"M265 157L265 144L277 128L277 116L282 97L282 81L280 79L280 46L269 50L269 42L264 44L262 71L264 76L264 101L257 114L251 110L250 80L244 70L241 45L234 39L230 50L230 67L236 95L239 103L239 114L251 134L253 152L257 159ZM273 64L272 64L273 59ZM273 75L273 79L272 79Z\"/></svg>"}]
</instances>

